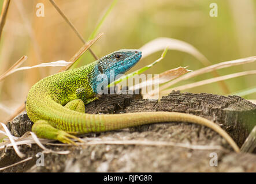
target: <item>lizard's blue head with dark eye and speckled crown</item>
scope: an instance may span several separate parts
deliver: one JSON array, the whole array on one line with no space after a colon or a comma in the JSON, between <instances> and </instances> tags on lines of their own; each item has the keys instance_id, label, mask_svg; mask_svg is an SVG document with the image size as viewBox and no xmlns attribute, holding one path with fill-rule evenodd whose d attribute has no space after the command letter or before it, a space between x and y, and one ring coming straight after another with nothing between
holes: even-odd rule
<instances>
[{"instance_id":1,"label":"lizard's blue head with dark eye and speckled crown","mask_svg":"<svg viewBox=\"0 0 256 184\"><path fill-rule=\"evenodd\" d=\"M95 78L92 80L94 92L97 93L97 85L102 82L97 80L98 75L104 74L108 79L108 83L113 82L110 79L117 79L118 74L124 74L135 66L141 57L142 52L139 50L121 49L97 60L94 68Z\"/></svg>"}]
</instances>

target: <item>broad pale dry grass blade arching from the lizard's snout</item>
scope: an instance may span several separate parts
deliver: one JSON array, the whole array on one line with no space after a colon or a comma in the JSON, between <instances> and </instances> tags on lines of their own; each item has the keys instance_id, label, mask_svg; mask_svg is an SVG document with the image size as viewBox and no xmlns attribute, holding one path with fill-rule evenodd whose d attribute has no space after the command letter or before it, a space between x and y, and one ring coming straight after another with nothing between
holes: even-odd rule
<instances>
[{"instance_id":1,"label":"broad pale dry grass blade arching from the lizard's snout","mask_svg":"<svg viewBox=\"0 0 256 184\"><path fill-rule=\"evenodd\" d=\"M201 53L193 47L191 44L185 41L170 39L168 37L159 37L158 39L152 40L145 44L140 50L142 51L142 57L146 57L153 52L161 51L168 45L169 49L186 52L196 57L204 66L209 66L212 63ZM220 76L217 71L212 71L213 76ZM229 93L228 87L224 82L220 82L220 86L224 93Z\"/></svg>"}]
</instances>

